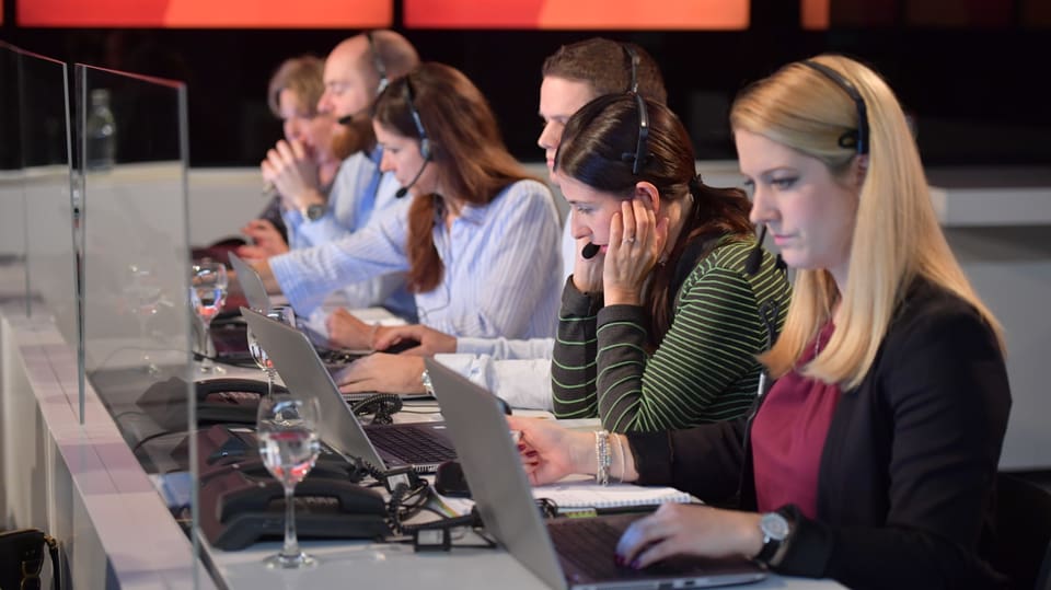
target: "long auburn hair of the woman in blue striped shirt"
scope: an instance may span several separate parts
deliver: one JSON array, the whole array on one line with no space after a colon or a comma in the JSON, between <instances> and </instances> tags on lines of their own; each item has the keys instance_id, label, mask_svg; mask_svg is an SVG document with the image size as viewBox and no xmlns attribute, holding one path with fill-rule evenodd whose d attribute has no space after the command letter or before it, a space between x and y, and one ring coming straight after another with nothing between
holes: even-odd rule
<instances>
[{"instance_id":1,"label":"long auburn hair of the woman in blue striped shirt","mask_svg":"<svg viewBox=\"0 0 1051 590\"><path fill-rule=\"evenodd\" d=\"M411 93L405 85L411 84ZM530 178L507 151L496 117L482 92L455 68L427 62L393 80L376 101L372 119L392 131L419 138L412 107L430 143L430 164L442 184L472 205L486 205L518 181ZM426 292L438 287L444 266L435 247L439 195L418 195L408 212L408 288Z\"/></svg>"}]
</instances>

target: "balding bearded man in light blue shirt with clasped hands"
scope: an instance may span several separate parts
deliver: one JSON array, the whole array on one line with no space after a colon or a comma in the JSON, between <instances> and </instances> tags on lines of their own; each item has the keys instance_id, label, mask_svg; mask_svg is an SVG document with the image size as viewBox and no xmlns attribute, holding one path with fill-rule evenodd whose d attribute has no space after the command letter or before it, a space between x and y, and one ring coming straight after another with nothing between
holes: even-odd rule
<instances>
[{"instance_id":1,"label":"balding bearded man in light blue shirt with clasped hands","mask_svg":"<svg viewBox=\"0 0 1051 590\"><path fill-rule=\"evenodd\" d=\"M382 150L376 144L369 116L377 95L389 80L405 76L419 58L413 45L392 31L370 31L337 45L325 60L325 91L319 113L343 125L333 139L333 152L344 158L326 195L317 166L299 141L278 141L262 163L263 177L281 194L284 219L292 251L282 257L296 264L304 250L363 228L373 212L396 203L399 184L380 171ZM267 232L268 233L268 232ZM252 235L265 248L269 235ZM274 252L276 254L277 252ZM340 289L349 308L382 304L412 319L415 305L402 276L388 276ZM313 310L297 310L310 313Z\"/></svg>"}]
</instances>

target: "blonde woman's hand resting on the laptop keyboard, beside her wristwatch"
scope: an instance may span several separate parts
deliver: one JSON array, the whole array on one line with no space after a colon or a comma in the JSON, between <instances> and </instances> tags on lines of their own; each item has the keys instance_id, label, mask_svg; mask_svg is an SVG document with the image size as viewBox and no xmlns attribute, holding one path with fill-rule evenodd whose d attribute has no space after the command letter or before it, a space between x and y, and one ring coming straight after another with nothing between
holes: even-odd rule
<instances>
[{"instance_id":1,"label":"blonde woman's hand resting on the laptop keyboard, beside her wristwatch","mask_svg":"<svg viewBox=\"0 0 1051 590\"><path fill-rule=\"evenodd\" d=\"M674 555L751 559L763 546L759 518L754 512L663 504L624 531L616 559L635 569Z\"/></svg>"}]
</instances>

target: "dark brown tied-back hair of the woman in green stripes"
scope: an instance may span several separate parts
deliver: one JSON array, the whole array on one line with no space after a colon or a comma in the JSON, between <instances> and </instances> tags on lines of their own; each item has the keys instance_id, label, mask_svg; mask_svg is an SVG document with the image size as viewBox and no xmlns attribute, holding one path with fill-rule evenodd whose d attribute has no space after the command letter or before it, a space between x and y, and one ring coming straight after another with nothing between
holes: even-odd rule
<instances>
[{"instance_id":1,"label":"dark brown tied-back hair of the woman in green stripes","mask_svg":"<svg viewBox=\"0 0 1051 590\"><path fill-rule=\"evenodd\" d=\"M563 131L555 170L596 190L630 198L636 183L657 187L660 198L674 201L693 195L679 238L668 261L654 268L644 305L650 312L649 345L660 344L671 326L671 282L682 256L696 240L723 234L741 239L753 233L748 220L748 196L738 188L714 188L701 182L694 167L693 146L679 117L668 107L645 101L649 115L649 155L639 174L632 172L639 135L639 108L633 94L600 96L577 111ZM628 158L632 157L632 158Z\"/></svg>"}]
</instances>

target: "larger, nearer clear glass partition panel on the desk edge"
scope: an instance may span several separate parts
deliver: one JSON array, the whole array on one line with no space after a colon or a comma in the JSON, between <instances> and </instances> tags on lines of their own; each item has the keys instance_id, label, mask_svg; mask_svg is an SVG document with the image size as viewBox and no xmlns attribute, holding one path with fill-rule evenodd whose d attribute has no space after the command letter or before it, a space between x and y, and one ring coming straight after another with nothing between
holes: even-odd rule
<instances>
[{"instance_id":1,"label":"larger, nearer clear glass partition panel on the desk edge","mask_svg":"<svg viewBox=\"0 0 1051 590\"><path fill-rule=\"evenodd\" d=\"M189 529L196 324L188 297L186 86L83 65L74 79L85 375ZM197 535L189 536L196 554Z\"/></svg>"}]
</instances>

